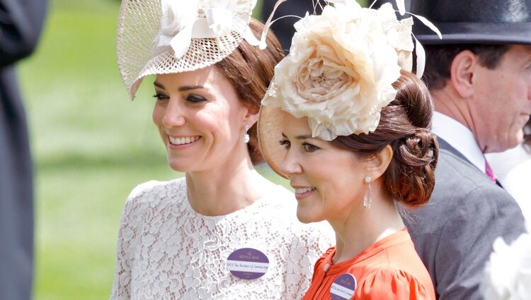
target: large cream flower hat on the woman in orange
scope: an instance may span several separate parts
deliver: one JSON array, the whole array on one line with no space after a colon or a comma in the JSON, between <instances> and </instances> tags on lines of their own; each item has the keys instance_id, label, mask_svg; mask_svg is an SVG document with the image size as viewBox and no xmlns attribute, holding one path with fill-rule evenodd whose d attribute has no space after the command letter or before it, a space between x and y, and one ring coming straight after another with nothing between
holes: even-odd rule
<instances>
[{"instance_id":1,"label":"large cream flower hat on the woman in orange","mask_svg":"<svg viewBox=\"0 0 531 300\"><path fill-rule=\"evenodd\" d=\"M404 15L404 0L396 4ZM281 111L306 116L312 136L322 140L375 131L396 96L392 84L401 70L411 71L412 25L411 17L398 20L390 3L376 10L355 0L329 1L321 15L295 23L290 54L275 66L258 121L261 151L275 172L282 175L285 155L278 143ZM416 46L420 77L424 54Z\"/></svg>"}]
</instances>

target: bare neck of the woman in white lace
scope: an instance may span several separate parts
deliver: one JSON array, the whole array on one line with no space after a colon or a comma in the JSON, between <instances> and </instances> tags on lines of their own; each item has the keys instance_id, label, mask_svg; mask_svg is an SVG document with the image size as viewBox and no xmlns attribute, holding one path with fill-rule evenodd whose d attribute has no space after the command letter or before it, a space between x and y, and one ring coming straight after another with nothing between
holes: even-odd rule
<instances>
[{"instance_id":1,"label":"bare neck of the woman in white lace","mask_svg":"<svg viewBox=\"0 0 531 300\"><path fill-rule=\"evenodd\" d=\"M270 184L253 167L249 156L232 166L187 172L190 206L201 215L227 215L260 199L264 184Z\"/></svg>"}]
</instances>

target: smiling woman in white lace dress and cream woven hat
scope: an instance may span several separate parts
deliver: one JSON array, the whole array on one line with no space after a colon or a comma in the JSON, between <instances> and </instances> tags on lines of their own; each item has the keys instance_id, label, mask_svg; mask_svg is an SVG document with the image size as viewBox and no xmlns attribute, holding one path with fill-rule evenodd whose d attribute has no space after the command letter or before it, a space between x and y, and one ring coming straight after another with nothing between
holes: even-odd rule
<instances>
[{"instance_id":1,"label":"smiling woman in white lace dress and cream woven hat","mask_svg":"<svg viewBox=\"0 0 531 300\"><path fill-rule=\"evenodd\" d=\"M282 57L273 35L256 39L255 4L122 1L120 73L131 97L156 76L154 124L185 177L130 193L111 299L301 299L331 244L329 227L300 224L292 193L253 167L258 108Z\"/></svg>"}]
</instances>

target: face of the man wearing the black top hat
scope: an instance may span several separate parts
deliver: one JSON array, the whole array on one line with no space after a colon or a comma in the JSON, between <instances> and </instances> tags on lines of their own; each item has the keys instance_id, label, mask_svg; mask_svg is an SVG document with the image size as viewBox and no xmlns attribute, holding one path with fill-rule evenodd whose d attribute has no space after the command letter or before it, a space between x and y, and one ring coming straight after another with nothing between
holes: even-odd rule
<instances>
[{"instance_id":1,"label":"face of the man wearing the black top hat","mask_svg":"<svg viewBox=\"0 0 531 300\"><path fill-rule=\"evenodd\" d=\"M470 113L483 152L501 152L523 140L531 114L531 46L513 45L494 69L480 67Z\"/></svg>"}]
</instances>

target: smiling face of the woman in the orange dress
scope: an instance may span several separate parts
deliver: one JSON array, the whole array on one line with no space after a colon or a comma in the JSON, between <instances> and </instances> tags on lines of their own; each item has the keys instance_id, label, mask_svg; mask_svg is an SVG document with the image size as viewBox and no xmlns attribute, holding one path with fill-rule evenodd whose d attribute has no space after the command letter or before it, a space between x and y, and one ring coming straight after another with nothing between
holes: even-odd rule
<instances>
[{"instance_id":1,"label":"smiling face of the woman in the orange dress","mask_svg":"<svg viewBox=\"0 0 531 300\"><path fill-rule=\"evenodd\" d=\"M286 112L283 118L280 143L287 153L280 169L295 188L299 220L334 222L363 209L365 162L329 141L312 138L307 118Z\"/></svg>"}]
</instances>

